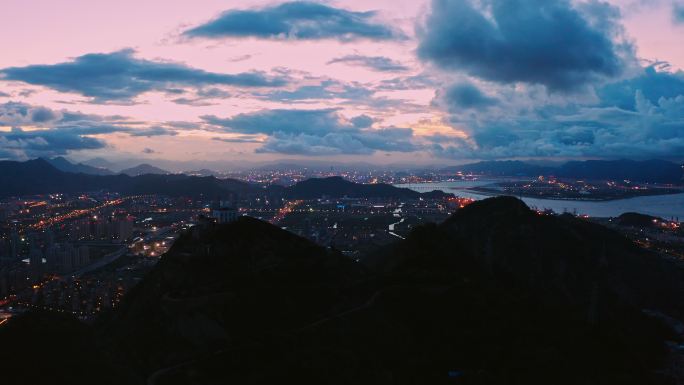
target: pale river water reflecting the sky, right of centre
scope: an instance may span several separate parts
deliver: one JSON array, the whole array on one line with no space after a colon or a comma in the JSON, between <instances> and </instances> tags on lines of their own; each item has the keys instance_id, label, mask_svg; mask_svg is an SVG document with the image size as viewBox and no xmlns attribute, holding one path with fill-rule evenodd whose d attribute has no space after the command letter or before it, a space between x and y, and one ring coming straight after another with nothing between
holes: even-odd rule
<instances>
[{"instance_id":1,"label":"pale river water reflecting the sky, right of centre","mask_svg":"<svg viewBox=\"0 0 684 385\"><path fill-rule=\"evenodd\" d=\"M410 185L404 184L397 185L397 187L407 187L419 192L442 190L444 192L454 193L455 195L466 198L484 199L488 198L488 196L469 191L468 189L494 182L497 181L481 179L476 181L418 183ZM616 217L625 212L638 212L662 217L665 219L679 218L679 220L684 221L684 193L672 195L653 195L603 202L524 197L522 200L532 208L552 209L557 213L571 212L577 214L586 214L592 217Z\"/></svg>"}]
</instances>

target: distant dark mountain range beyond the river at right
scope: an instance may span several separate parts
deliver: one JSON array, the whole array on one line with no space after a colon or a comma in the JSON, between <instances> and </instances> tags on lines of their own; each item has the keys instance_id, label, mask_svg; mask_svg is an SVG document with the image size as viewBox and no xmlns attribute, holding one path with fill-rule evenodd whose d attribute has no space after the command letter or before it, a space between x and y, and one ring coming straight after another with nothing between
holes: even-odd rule
<instances>
[{"instance_id":1,"label":"distant dark mountain range beyond the river at right","mask_svg":"<svg viewBox=\"0 0 684 385\"><path fill-rule=\"evenodd\" d=\"M682 183L682 165L663 160L586 160L571 161L561 166L539 166L522 161L487 161L448 167L449 172L493 176L554 175L588 180L631 180L648 183Z\"/></svg>"}]
</instances>

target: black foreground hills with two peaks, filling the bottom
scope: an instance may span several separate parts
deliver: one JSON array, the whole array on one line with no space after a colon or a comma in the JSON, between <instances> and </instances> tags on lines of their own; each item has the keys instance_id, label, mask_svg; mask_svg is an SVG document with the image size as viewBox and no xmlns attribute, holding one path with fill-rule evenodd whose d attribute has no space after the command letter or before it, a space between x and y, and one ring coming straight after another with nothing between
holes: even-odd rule
<instances>
[{"instance_id":1,"label":"black foreground hills with two peaks, filling the bottom","mask_svg":"<svg viewBox=\"0 0 684 385\"><path fill-rule=\"evenodd\" d=\"M12 384L674 384L683 282L618 233L510 197L361 263L243 217L183 234L92 327L15 317L0 359ZM63 354L27 360L40 346Z\"/></svg>"}]
</instances>

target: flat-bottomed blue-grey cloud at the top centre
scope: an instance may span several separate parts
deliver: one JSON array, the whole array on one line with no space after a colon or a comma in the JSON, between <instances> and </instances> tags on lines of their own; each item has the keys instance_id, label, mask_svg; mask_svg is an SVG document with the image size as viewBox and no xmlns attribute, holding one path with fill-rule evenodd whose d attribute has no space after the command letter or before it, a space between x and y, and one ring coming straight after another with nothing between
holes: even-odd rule
<instances>
[{"instance_id":1,"label":"flat-bottomed blue-grey cloud at the top centre","mask_svg":"<svg viewBox=\"0 0 684 385\"><path fill-rule=\"evenodd\" d=\"M353 12L324 4L297 1L261 9L229 10L183 33L186 37L258 37L302 40L403 38L373 21L375 12Z\"/></svg>"}]
</instances>

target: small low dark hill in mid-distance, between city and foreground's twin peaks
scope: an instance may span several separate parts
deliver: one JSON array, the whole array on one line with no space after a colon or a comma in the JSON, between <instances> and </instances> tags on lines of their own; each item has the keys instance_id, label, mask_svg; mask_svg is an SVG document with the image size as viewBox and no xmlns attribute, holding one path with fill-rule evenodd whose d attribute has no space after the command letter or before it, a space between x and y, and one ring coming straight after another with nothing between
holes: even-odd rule
<instances>
[{"instance_id":1,"label":"small low dark hill in mid-distance, between city and foreground's twin peaks","mask_svg":"<svg viewBox=\"0 0 684 385\"><path fill-rule=\"evenodd\" d=\"M293 199L316 199L322 196L331 198L395 198L395 199L417 199L421 196L439 198L451 196L452 194L441 191L429 193L419 193L407 188L394 187L392 185L360 184L350 182L342 177L335 176L329 178L312 178L299 182L285 189L285 195Z\"/></svg>"}]
</instances>

